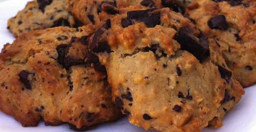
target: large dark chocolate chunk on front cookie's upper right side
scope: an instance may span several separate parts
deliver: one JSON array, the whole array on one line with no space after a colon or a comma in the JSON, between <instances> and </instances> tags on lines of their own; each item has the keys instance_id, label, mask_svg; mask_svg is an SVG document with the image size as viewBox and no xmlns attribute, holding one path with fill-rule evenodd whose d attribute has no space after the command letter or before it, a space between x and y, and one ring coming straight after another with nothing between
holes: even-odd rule
<instances>
[{"instance_id":1,"label":"large dark chocolate chunk on front cookie's upper right side","mask_svg":"<svg viewBox=\"0 0 256 132\"><path fill-rule=\"evenodd\" d=\"M186 50L200 60L209 48L208 37L200 31L198 38L192 35L189 28L182 27L175 35L175 40Z\"/></svg>"}]
</instances>

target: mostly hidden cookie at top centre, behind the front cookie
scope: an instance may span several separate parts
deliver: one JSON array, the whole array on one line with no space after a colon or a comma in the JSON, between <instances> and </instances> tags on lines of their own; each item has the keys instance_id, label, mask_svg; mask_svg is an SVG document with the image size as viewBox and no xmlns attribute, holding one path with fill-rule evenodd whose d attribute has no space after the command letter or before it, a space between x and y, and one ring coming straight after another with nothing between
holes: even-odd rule
<instances>
[{"instance_id":1,"label":"mostly hidden cookie at top centre, behind the front cookie","mask_svg":"<svg viewBox=\"0 0 256 132\"><path fill-rule=\"evenodd\" d=\"M87 25L90 22L98 24L99 14L102 12L102 4L107 3L117 8L125 8L142 4L145 7L162 7L161 0L74 0L72 14L76 20ZM173 3L173 0L166 2Z\"/></svg>"}]
</instances>

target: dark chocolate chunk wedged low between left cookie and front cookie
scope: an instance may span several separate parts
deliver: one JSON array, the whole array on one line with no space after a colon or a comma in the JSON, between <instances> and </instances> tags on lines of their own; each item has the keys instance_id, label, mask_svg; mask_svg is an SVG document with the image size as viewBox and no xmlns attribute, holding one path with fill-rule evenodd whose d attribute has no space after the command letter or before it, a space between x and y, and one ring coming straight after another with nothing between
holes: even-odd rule
<instances>
[{"instance_id":1,"label":"dark chocolate chunk wedged low between left cookie and front cookie","mask_svg":"<svg viewBox=\"0 0 256 132\"><path fill-rule=\"evenodd\" d=\"M88 60L87 60L88 64L94 63L95 71L99 71L101 73L106 73L106 67L100 63L99 58L96 55L89 52L89 53L87 53L87 58L88 58Z\"/></svg>"}]
</instances>

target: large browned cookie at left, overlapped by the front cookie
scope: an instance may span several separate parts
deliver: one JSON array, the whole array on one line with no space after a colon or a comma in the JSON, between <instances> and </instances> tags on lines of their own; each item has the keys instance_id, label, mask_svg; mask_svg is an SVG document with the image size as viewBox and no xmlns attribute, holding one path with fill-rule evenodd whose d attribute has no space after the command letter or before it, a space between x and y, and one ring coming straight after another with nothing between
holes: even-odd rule
<instances>
[{"instance_id":1,"label":"large browned cookie at left, overlapped by the front cookie","mask_svg":"<svg viewBox=\"0 0 256 132\"><path fill-rule=\"evenodd\" d=\"M0 53L0 110L22 126L69 122L81 131L122 116L106 74L85 62L93 25L31 30Z\"/></svg>"}]
</instances>

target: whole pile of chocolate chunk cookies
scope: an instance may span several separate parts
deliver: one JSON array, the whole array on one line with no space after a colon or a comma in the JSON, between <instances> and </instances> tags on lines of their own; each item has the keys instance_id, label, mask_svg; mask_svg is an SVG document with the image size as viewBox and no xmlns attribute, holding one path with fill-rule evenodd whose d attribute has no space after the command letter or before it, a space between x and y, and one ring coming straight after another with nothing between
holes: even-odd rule
<instances>
[{"instance_id":1,"label":"whole pile of chocolate chunk cookies","mask_svg":"<svg viewBox=\"0 0 256 132\"><path fill-rule=\"evenodd\" d=\"M22 126L42 118L46 126L68 122L76 131L124 114L146 130L220 127L243 87L256 82L255 6L254 0L28 2L8 20L17 39L0 53L0 110Z\"/></svg>"}]
</instances>

